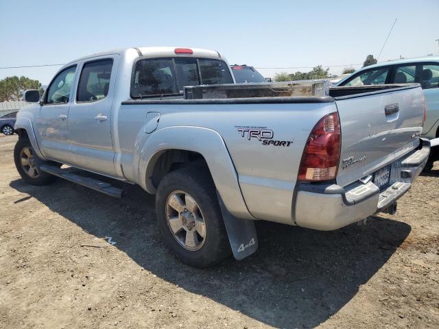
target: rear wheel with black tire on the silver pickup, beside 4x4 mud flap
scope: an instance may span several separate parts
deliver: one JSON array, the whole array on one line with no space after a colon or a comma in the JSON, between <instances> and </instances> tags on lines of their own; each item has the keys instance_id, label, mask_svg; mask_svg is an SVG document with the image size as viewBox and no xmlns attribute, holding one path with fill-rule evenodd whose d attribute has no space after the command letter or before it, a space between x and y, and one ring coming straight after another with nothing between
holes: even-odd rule
<instances>
[{"instance_id":1,"label":"rear wheel with black tire on the silver pickup, beside 4x4 mud flap","mask_svg":"<svg viewBox=\"0 0 439 329\"><path fill-rule=\"evenodd\" d=\"M176 205L175 200L178 197L186 211L178 212L171 206ZM193 202L196 207L193 206ZM180 206L182 204L176 208ZM189 215L185 215L187 212ZM157 188L156 215L163 242L182 262L204 268L230 256L230 243L219 208L215 184L208 170L198 166L185 167L165 175ZM191 236L195 236L195 239L191 239Z\"/></svg>"}]
</instances>

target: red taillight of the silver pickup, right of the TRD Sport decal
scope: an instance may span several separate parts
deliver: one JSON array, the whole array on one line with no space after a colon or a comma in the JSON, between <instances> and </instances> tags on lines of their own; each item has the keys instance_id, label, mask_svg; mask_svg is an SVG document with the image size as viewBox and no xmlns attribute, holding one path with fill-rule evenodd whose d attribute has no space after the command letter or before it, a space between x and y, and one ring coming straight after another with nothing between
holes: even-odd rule
<instances>
[{"instance_id":1,"label":"red taillight of the silver pickup, right of the TRD Sport decal","mask_svg":"<svg viewBox=\"0 0 439 329\"><path fill-rule=\"evenodd\" d=\"M300 161L299 180L333 180L340 162L340 120L338 113L327 114L313 128Z\"/></svg>"}]
</instances>

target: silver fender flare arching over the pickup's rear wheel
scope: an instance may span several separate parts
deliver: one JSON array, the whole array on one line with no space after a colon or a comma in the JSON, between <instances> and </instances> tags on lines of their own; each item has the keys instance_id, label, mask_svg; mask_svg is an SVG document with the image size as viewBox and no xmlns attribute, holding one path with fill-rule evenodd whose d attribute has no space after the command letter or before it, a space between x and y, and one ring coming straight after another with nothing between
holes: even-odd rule
<instances>
[{"instance_id":1,"label":"silver fender flare arching over the pickup's rear wheel","mask_svg":"<svg viewBox=\"0 0 439 329\"><path fill-rule=\"evenodd\" d=\"M156 130L146 140L139 155L139 184L151 194L156 192L151 176L158 158L167 149L182 149L201 154L227 210L235 217L254 219L241 193L238 176L222 137L204 127L173 126Z\"/></svg>"}]
</instances>

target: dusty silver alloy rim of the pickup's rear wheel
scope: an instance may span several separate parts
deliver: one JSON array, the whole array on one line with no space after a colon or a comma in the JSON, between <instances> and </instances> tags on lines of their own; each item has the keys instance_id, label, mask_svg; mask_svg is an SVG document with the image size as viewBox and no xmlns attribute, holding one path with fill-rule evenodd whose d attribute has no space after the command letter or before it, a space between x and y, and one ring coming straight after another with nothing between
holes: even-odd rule
<instances>
[{"instance_id":1,"label":"dusty silver alloy rim of the pickup's rear wheel","mask_svg":"<svg viewBox=\"0 0 439 329\"><path fill-rule=\"evenodd\" d=\"M166 201L167 226L185 249L195 251L204 245L206 223L200 206L186 192L175 191Z\"/></svg>"}]
</instances>

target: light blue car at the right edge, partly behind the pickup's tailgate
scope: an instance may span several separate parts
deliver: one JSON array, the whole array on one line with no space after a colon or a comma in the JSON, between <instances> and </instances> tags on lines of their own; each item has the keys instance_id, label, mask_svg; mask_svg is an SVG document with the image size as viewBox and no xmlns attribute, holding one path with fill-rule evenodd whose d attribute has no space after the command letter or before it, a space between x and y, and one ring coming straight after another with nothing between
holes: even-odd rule
<instances>
[{"instance_id":1,"label":"light blue car at the right edge, partly behind the pickup's tailgate","mask_svg":"<svg viewBox=\"0 0 439 329\"><path fill-rule=\"evenodd\" d=\"M427 103L427 119L422 136L439 137L439 57L428 56L410 60L394 60L366 66L345 77L335 86L364 86L366 84L405 84L418 82ZM439 160L438 147L431 151L426 169Z\"/></svg>"}]
</instances>

